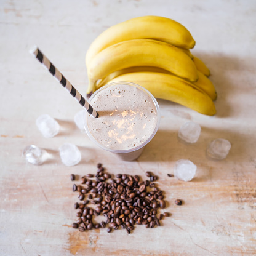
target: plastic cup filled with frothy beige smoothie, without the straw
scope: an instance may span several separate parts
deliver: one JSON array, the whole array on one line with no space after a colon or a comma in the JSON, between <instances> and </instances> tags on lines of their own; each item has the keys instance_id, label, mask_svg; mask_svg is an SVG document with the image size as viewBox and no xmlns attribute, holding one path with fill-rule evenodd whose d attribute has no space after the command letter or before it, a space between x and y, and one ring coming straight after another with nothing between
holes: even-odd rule
<instances>
[{"instance_id":1,"label":"plastic cup filled with frothy beige smoothie, without the straw","mask_svg":"<svg viewBox=\"0 0 256 256\"><path fill-rule=\"evenodd\" d=\"M124 161L137 159L158 130L158 102L148 90L132 82L107 84L89 98L89 103L99 117L84 113L87 135Z\"/></svg>"}]
</instances>

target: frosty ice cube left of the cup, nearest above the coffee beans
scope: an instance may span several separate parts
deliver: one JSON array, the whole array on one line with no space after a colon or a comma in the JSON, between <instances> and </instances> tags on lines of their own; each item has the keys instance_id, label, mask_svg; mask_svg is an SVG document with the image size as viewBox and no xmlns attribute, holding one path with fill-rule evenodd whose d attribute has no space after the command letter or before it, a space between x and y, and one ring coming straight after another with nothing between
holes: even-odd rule
<instances>
[{"instance_id":1,"label":"frosty ice cube left of the cup, nearest above the coffee beans","mask_svg":"<svg viewBox=\"0 0 256 256\"><path fill-rule=\"evenodd\" d=\"M60 158L66 166L74 166L81 161L81 153L74 144L64 143L58 150L60 151Z\"/></svg>"}]
</instances>

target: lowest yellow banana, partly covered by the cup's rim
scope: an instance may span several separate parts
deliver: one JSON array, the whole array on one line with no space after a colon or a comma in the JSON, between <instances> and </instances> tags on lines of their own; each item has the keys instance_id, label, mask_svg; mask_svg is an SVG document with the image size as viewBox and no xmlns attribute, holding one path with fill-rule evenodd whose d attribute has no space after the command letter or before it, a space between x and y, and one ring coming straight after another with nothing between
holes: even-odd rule
<instances>
[{"instance_id":1,"label":"lowest yellow banana, partly covered by the cup's rim","mask_svg":"<svg viewBox=\"0 0 256 256\"><path fill-rule=\"evenodd\" d=\"M140 84L156 98L179 103L201 114L213 116L216 113L214 103L204 91L172 74L134 72L122 74L110 82L121 81Z\"/></svg>"}]
</instances>

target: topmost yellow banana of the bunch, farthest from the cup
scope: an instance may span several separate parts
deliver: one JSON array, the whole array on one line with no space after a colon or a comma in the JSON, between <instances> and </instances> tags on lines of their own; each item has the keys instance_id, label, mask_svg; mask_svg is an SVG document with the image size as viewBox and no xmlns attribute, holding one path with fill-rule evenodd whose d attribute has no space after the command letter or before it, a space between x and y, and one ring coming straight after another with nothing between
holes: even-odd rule
<instances>
[{"instance_id":1,"label":"topmost yellow banana of the bunch, farthest from the cup","mask_svg":"<svg viewBox=\"0 0 256 256\"><path fill-rule=\"evenodd\" d=\"M86 54L86 65L92 58L113 44L132 39L156 39L174 46L191 49L196 43L185 26L170 18L143 16L132 18L103 31L90 45Z\"/></svg>"}]
</instances>

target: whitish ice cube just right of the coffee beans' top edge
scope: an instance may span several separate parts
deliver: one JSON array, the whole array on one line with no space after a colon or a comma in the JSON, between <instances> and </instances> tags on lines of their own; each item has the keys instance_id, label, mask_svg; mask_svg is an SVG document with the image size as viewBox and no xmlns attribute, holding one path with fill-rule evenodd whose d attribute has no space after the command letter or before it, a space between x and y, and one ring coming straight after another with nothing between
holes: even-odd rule
<instances>
[{"instance_id":1,"label":"whitish ice cube just right of the coffee beans' top edge","mask_svg":"<svg viewBox=\"0 0 256 256\"><path fill-rule=\"evenodd\" d=\"M196 165L190 160L180 159L174 166L174 177L189 182L196 174Z\"/></svg>"}]
</instances>

